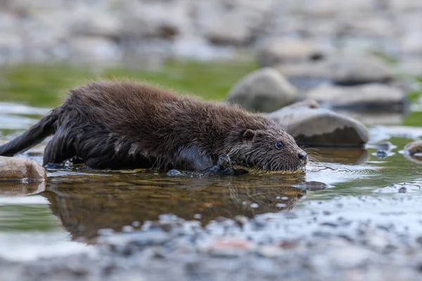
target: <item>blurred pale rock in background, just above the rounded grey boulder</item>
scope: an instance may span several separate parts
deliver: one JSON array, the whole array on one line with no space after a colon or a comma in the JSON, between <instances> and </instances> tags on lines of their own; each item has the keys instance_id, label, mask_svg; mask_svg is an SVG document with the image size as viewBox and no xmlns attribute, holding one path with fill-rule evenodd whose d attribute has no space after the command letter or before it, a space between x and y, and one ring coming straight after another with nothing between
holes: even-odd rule
<instances>
[{"instance_id":1,"label":"blurred pale rock in background, just above the rounded grey boulder","mask_svg":"<svg viewBox=\"0 0 422 281\"><path fill-rule=\"evenodd\" d=\"M280 63L301 63L324 58L324 51L314 41L300 39L271 39L258 49L258 62L262 66Z\"/></svg>"}]
</instances>

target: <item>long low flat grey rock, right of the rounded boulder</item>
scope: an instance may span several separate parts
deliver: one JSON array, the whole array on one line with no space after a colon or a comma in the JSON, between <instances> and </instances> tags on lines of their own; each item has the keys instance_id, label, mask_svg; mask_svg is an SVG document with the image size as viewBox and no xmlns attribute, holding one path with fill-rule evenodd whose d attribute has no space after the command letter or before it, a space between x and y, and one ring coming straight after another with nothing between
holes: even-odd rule
<instances>
[{"instance_id":1,"label":"long low flat grey rock, right of the rounded boulder","mask_svg":"<svg viewBox=\"0 0 422 281\"><path fill-rule=\"evenodd\" d=\"M404 111L406 93L384 84L362 86L319 86L307 93L308 98L336 108Z\"/></svg>"}]
</instances>

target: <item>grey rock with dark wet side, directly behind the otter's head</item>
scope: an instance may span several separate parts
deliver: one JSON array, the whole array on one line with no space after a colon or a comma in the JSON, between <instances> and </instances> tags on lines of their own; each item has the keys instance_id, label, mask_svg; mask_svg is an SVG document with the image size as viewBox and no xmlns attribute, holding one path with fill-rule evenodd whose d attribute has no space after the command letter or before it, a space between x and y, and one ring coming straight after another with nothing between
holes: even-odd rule
<instances>
[{"instance_id":1,"label":"grey rock with dark wet side, directly behind the otter's head","mask_svg":"<svg viewBox=\"0 0 422 281\"><path fill-rule=\"evenodd\" d=\"M282 108L267 117L304 145L360 147L369 141L361 122L322 108Z\"/></svg>"}]
</instances>

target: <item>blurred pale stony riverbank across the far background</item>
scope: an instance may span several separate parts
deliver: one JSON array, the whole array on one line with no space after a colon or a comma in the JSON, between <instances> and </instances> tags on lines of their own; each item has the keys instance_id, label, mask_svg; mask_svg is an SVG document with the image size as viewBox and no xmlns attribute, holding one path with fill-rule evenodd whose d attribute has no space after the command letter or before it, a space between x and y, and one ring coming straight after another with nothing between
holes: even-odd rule
<instances>
[{"instance_id":1,"label":"blurred pale stony riverbank across the far background","mask_svg":"<svg viewBox=\"0 0 422 281\"><path fill-rule=\"evenodd\" d=\"M156 67L164 58L232 58L245 49L274 65L376 52L420 75L421 19L422 4L411 0L1 0L0 65Z\"/></svg>"}]
</instances>

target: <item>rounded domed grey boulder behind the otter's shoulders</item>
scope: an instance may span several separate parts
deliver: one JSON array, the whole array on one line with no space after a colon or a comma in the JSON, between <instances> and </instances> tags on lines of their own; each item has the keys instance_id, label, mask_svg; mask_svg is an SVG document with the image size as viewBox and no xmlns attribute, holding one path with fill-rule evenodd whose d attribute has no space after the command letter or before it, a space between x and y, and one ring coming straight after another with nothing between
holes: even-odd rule
<instances>
[{"instance_id":1,"label":"rounded domed grey boulder behind the otter's shoulders","mask_svg":"<svg viewBox=\"0 0 422 281\"><path fill-rule=\"evenodd\" d=\"M227 100L247 110L271 112L293 103L298 91L277 70L265 67L248 74L229 92Z\"/></svg>"}]
</instances>

